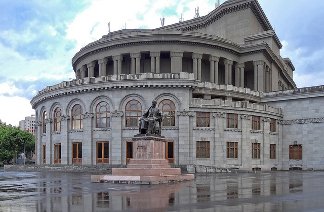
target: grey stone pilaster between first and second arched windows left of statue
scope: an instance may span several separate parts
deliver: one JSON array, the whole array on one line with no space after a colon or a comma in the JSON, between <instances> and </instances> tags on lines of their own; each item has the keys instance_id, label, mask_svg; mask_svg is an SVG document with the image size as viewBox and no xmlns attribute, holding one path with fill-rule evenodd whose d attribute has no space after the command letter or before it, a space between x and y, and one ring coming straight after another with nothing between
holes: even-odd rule
<instances>
[{"instance_id":1,"label":"grey stone pilaster between first and second arched windows left of statue","mask_svg":"<svg viewBox=\"0 0 324 212\"><path fill-rule=\"evenodd\" d=\"M124 113L121 111L110 112L111 126L111 155L109 161L111 164L123 163L123 137L121 136L121 126L123 125ZM137 131L138 132L138 131ZM126 160L125 160L126 163Z\"/></svg>"}]
</instances>

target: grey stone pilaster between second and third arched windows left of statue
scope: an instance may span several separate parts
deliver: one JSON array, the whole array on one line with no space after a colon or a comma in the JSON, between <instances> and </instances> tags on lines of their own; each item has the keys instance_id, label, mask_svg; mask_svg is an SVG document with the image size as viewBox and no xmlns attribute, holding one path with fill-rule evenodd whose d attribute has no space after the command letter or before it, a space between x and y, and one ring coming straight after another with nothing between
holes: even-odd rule
<instances>
[{"instance_id":1,"label":"grey stone pilaster between second and third arched windows left of statue","mask_svg":"<svg viewBox=\"0 0 324 212\"><path fill-rule=\"evenodd\" d=\"M83 142L82 142L82 164L91 165L93 158L93 145L92 140L92 118L93 113L82 114L82 124L83 124Z\"/></svg>"}]
</instances>

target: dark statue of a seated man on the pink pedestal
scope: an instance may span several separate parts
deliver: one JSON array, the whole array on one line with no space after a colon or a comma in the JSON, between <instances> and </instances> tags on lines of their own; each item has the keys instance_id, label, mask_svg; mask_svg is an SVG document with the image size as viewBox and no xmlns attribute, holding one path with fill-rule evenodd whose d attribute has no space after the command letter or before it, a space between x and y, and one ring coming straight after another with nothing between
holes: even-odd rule
<instances>
[{"instance_id":1,"label":"dark statue of a seated man on the pink pedestal","mask_svg":"<svg viewBox=\"0 0 324 212\"><path fill-rule=\"evenodd\" d=\"M156 100L152 101L152 105L144 112L143 116L138 120L140 134L161 135L163 113L161 109L156 107Z\"/></svg>"}]
</instances>

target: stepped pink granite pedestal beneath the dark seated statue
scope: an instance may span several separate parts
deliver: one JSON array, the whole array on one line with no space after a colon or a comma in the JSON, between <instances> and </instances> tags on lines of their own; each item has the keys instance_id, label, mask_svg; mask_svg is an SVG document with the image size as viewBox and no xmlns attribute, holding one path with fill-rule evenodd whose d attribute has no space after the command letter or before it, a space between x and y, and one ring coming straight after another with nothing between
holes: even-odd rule
<instances>
[{"instance_id":1,"label":"stepped pink granite pedestal beneath the dark seated statue","mask_svg":"<svg viewBox=\"0 0 324 212\"><path fill-rule=\"evenodd\" d=\"M179 168L172 169L165 152L164 136L135 135L133 159L127 169L112 169L112 175L92 175L91 182L151 185L194 179L192 174L181 175Z\"/></svg>"}]
</instances>

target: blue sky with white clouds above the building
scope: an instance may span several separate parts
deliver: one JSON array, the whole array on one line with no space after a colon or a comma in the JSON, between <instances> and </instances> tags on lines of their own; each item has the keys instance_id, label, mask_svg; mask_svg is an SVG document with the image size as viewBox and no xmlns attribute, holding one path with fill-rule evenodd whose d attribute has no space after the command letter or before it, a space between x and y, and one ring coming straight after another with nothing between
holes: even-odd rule
<instances>
[{"instance_id":1,"label":"blue sky with white clouds above the building","mask_svg":"<svg viewBox=\"0 0 324 212\"><path fill-rule=\"evenodd\" d=\"M71 59L110 30L153 29L215 9L215 0L0 0L0 120L34 114L38 90L75 78ZM220 3L224 3L221 0ZM322 0L259 0L289 57L297 87L324 84Z\"/></svg>"}]
</instances>

